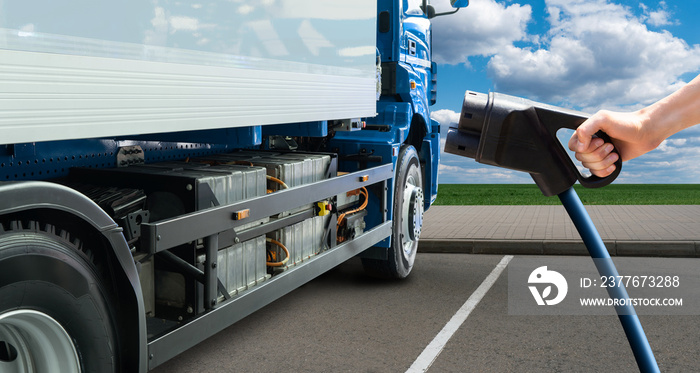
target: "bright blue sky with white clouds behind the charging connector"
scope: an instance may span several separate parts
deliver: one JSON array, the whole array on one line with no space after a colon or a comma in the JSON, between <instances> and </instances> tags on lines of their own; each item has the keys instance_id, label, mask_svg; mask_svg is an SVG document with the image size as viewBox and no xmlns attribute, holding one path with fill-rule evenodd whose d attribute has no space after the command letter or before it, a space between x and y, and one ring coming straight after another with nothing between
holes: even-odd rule
<instances>
[{"instance_id":1,"label":"bright blue sky with white clouds behind the charging connector","mask_svg":"<svg viewBox=\"0 0 700 373\"><path fill-rule=\"evenodd\" d=\"M432 0L439 11L449 0ZM639 109L700 73L700 2L471 0L433 20L444 133L464 91L495 91L589 113ZM440 183L532 183L525 173L442 154ZM616 183L700 183L700 126L625 162Z\"/></svg>"}]
</instances>

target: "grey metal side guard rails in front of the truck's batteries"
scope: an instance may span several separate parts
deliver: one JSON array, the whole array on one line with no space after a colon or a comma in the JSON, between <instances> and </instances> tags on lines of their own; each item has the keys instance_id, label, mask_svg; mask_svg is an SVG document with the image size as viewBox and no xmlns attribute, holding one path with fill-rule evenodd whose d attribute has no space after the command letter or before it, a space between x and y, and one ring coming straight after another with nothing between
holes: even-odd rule
<instances>
[{"instance_id":1,"label":"grey metal side guard rails in front of the truck's batteries","mask_svg":"<svg viewBox=\"0 0 700 373\"><path fill-rule=\"evenodd\" d=\"M159 366L311 279L390 237L392 222L386 220L386 195L387 180L393 177L393 165L386 164L231 205L218 206L173 219L143 224L142 246L151 254L204 238L206 265L203 294L205 305L208 308L205 313L148 341L148 369ZM233 239L235 242L243 241L246 237L254 237L260 233L275 230L279 224L286 225L290 223L290 220L303 219L306 214L291 215L286 221L275 221L236 232L236 227L248 221L255 221L370 185L380 186L381 208L384 210L383 223L353 240L335 245L310 260L289 268L249 291L216 303L218 277L216 265L212 264L216 263L221 236L226 236L227 240ZM232 217L241 210L249 210L249 217L244 220L234 220ZM333 241L331 240L331 242ZM194 267L192 268L194 269ZM211 303L207 304L207 300Z\"/></svg>"}]
</instances>

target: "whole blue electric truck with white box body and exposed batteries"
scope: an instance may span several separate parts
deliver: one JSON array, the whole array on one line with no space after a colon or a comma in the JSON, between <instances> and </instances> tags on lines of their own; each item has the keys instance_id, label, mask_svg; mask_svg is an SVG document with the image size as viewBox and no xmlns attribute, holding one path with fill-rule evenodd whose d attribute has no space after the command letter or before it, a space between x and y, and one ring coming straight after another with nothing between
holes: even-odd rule
<instances>
[{"instance_id":1,"label":"whole blue electric truck with white box body and exposed batteries","mask_svg":"<svg viewBox=\"0 0 700 373\"><path fill-rule=\"evenodd\" d=\"M145 372L349 258L408 276L442 14L0 2L0 371Z\"/></svg>"}]
</instances>

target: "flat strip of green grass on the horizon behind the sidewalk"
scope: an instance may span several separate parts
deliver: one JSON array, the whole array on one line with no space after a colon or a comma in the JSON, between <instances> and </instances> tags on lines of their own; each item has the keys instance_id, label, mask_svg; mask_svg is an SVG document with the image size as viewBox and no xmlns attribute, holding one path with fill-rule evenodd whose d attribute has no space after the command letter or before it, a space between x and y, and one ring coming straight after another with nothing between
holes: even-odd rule
<instances>
[{"instance_id":1,"label":"flat strip of green grass on the horizon behind the sidewalk","mask_svg":"<svg viewBox=\"0 0 700 373\"><path fill-rule=\"evenodd\" d=\"M575 185L585 205L698 205L700 184L612 184L600 189ZM534 184L440 184L436 205L556 205Z\"/></svg>"}]
</instances>

